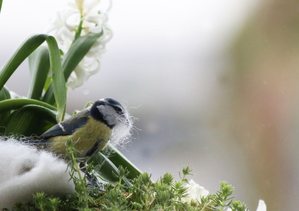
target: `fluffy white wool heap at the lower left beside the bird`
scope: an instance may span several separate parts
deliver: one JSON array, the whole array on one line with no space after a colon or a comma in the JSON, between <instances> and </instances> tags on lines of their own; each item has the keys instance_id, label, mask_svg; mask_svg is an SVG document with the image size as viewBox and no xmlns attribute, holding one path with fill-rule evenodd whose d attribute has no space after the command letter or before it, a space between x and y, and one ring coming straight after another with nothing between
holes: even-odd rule
<instances>
[{"instance_id":1,"label":"fluffy white wool heap at the lower left beside the bird","mask_svg":"<svg viewBox=\"0 0 299 211\"><path fill-rule=\"evenodd\" d=\"M74 193L67 167L50 152L0 137L0 209L11 210L16 201L31 200L36 192L55 196Z\"/></svg>"}]
</instances>

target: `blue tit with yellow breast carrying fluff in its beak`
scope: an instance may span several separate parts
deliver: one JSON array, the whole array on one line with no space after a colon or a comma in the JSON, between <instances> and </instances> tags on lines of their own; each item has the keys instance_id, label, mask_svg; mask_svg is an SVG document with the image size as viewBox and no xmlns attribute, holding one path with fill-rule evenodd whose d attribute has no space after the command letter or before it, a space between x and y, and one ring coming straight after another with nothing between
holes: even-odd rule
<instances>
[{"instance_id":1,"label":"blue tit with yellow breast carrying fluff in its beak","mask_svg":"<svg viewBox=\"0 0 299 211\"><path fill-rule=\"evenodd\" d=\"M65 142L70 137L74 147L81 152L78 157L90 158L107 144L115 125L129 121L126 114L126 108L120 102L103 98L51 127L36 141L56 154L65 154Z\"/></svg>"}]
</instances>

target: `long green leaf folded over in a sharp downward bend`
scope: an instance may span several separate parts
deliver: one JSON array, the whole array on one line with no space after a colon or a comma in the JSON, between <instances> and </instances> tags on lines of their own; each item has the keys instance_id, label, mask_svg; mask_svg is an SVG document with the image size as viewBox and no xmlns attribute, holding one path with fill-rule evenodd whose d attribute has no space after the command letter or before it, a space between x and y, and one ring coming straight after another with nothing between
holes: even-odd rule
<instances>
[{"instance_id":1,"label":"long green leaf folded over in a sharp downward bend","mask_svg":"<svg viewBox=\"0 0 299 211\"><path fill-rule=\"evenodd\" d=\"M62 72L60 52L57 42L53 36L47 34L35 34L26 39L13 53L7 63L0 71L0 90L19 67L19 65L44 41L48 43L51 75L53 82L53 95L57 104L57 122L63 120L66 105L65 79Z\"/></svg>"}]
</instances>

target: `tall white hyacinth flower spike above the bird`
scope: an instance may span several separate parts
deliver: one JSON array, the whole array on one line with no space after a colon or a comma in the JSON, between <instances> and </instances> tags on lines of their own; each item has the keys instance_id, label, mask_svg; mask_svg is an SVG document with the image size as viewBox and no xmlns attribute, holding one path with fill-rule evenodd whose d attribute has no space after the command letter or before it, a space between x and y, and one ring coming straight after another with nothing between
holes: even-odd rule
<instances>
[{"instance_id":1,"label":"tall white hyacinth flower spike above the bird","mask_svg":"<svg viewBox=\"0 0 299 211\"><path fill-rule=\"evenodd\" d=\"M105 3L108 6L103 9ZM111 0L106 2L73 0L68 3L68 6L68 9L58 11L46 28L47 33L53 33L64 53L74 41L80 21L82 21L80 36L88 33L103 33L68 78L67 86L75 89L100 70L100 57L106 52L106 43L112 38L112 30L107 24Z\"/></svg>"}]
</instances>

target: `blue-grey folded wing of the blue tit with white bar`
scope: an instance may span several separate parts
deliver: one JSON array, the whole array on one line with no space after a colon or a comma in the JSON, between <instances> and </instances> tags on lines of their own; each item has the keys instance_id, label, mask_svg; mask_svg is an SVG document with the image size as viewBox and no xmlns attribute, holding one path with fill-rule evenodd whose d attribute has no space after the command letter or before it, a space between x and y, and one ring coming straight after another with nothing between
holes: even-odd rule
<instances>
[{"instance_id":1,"label":"blue-grey folded wing of the blue tit with white bar","mask_svg":"<svg viewBox=\"0 0 299 211\"><path fill-rule=\"evenodd\" d=\"M80 111L76 115L68 118L67 120L54 125L46 132L44 132L41 136L38 137L39 140L48 139L49 137L53 136L60 136L60 135L70 135L73 134L78 128L83 127L89 118L89 110L84 109Z\"/></svg>"}]
</instances>

